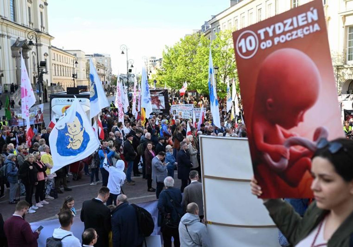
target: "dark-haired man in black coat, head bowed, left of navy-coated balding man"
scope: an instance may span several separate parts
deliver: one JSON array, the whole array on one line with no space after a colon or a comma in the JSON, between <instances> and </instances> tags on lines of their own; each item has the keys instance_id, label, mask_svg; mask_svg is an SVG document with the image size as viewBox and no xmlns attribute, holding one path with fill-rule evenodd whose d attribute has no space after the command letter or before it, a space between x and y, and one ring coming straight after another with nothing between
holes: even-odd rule
<instances>
[{"instance_id":1,"label":"dark-haired man in black coat, head bowed, left of navy-coated balding man","mask_svg":"<svg viewBox=\"0 0 353 247\"><path fill-rule=\"evenodd\" d=\"M103 186L100 188L96 198L84 201L82 204L80 217L81 221L84 222L85 230L94 228L99 236L96 247L109 246L110 210L104 205L108 198L109 189Z\"/></svg>"}]
</instances>

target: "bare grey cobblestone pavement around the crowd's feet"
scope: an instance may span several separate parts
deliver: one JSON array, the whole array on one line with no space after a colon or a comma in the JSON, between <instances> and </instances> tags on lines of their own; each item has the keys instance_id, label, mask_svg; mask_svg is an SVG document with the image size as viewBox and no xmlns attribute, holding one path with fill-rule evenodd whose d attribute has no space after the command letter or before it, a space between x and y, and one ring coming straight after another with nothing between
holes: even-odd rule
<instances>
[{"instance_id":1,"label":"bare grey cobblestone pavement around the crowd's feet","mask_svg":"<svg viewBox=\"0 0 353 247\"><path fill-rule=\"evenodd\" d=\"M101 174L99 174L101 179ZM42 221L46 219L55 218L56 214L59 212L60 207L64 201L64 198L67 195L71 195L75 199L75 209L77 211L77 215L79 215L80 210L82 208L82 203L85 200L95 198L97 196L98 190L101 187L101 183L98 183L95 186L90 185L90 176L83 175L82 179L78 181L73 181L72 176L68 176L68 186L72 188L72 191L63 191L64 194L59 194L59 197L54 200L48 200L49 204L44 205L44 207L39 208L36 210L36 213L27 214L26 221L28 222L36 222ZM147 180L141 177L132 177L134 181L136 181L136 185L124 185L122 186L124 193L129 198L130 203L142 203L146 201L156 200L156 193L155 192L148 192L147 191ZM174 186L180 188L181 181L177 179L177 171L175 171L174 175L175 184ZM155 188L156 183L152 183L152 187ZM6 188L6 186L5 186ZM8 204L8 195L9 190L5 189L5 197L0 199L0 213L4 217L4 220L10 217L15 209L14 204ZM17 196L19 193L19 189L17 191ZM21 200L24 200L24 197L20 197ZM32 202L35 203L34 195Z\"/></svg>"}]
</instances>

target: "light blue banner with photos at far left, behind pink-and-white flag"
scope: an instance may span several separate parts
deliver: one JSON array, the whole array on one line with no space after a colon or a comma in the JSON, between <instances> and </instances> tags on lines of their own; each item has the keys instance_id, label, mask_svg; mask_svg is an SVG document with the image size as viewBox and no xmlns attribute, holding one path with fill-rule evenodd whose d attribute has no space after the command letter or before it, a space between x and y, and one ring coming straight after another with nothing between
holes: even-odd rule
<instances>
[{"instance_id":1,"label":"light blue banner with photos at far left, behind pink-and-white flag","mask_svg":"<svg viewBox=\"0 0 353 247\"><path fill-rule=\"evenodd\" d=\"M43 111L44 104L35 105L29 108L29 123L42 123L44 120ZM11 109L10 126L23 126L23 118L21 109ZM26 123L24 123L26 125Z\"/></svg>"}]
</instances>

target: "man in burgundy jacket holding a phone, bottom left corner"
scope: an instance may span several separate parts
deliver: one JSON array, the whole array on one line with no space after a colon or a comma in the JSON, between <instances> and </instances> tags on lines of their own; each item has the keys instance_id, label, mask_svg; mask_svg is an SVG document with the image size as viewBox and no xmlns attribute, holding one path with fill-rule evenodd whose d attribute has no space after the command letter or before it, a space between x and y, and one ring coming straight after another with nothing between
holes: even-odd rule
<instances>
[{"instance_id":1,"label":"man in burgundy jacket holding a phone, bottom left corner","mask_svg":"<svg viewBox=\"0 0 353 247\"><path fill-rule=\"evenodd\" d=\"M37 239L41 233L40 229L33 232L29 223L25 221L29 207L30 204L27 201L19 201L13 215L5 221L4 231L8 246L38 246Z\"/></svg>"}]
</instances>

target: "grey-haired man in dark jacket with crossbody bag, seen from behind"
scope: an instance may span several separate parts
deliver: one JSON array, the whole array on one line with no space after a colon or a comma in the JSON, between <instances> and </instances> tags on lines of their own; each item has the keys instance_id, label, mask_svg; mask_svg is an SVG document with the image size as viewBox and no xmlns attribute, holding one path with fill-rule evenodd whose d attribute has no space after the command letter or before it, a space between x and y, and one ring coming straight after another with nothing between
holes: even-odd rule
<instances>
[{"instance_id":1,"label":"grey-haired man in dark jacket with crossbody bag, seen from behind","mask_svg":"<svg viewBox=\"0 0 353 247\"><path fill-rule=\"evenodd\" d=\"M181 192L180 189L174 188L173 177L166 177L164 179L164 189L159 194L158 199L158 226L161 227L163 235L164 247L172 246L172 237L174 238L174 246L180 246L178 227L170 227L163 224L165 217L170 218L172 225L179 225L180 219L183 216L183 208L181 207Z\"/></svg>"}]
</instances>

